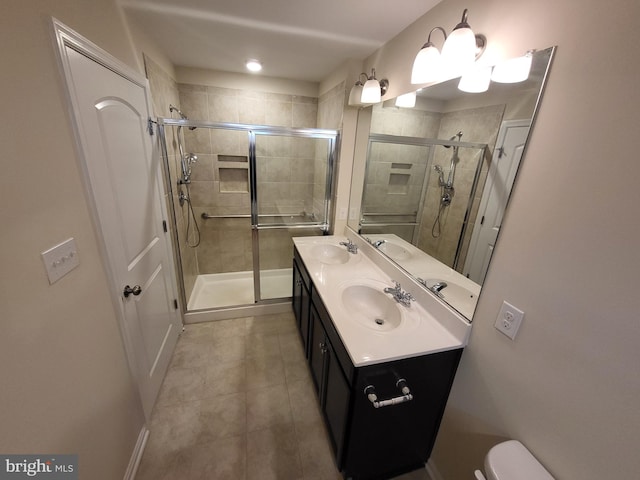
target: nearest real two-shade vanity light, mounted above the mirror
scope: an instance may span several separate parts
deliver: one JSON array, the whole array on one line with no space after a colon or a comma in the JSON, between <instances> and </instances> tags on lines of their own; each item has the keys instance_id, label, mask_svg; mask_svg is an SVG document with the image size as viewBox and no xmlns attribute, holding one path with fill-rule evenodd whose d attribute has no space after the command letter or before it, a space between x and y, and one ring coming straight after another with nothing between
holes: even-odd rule
<instances>
[{"instance_id":1,"label":"nearest real two-shade vanity light, mounted above the mirror","mask_svg":"<svg viewBox=\"0 0 640 480\"><path fill-rule=\"evenodd\" d=\"M431 42L431 34L439 30L444 35L442 53ZM462 12L462 19L449 36L442 27L435 27L429 32L425 43L413 62L411 83L432 83L461 75L484 52L487 38L476 35L467 22L467 9Z\"/></svg>"}]
</instances>

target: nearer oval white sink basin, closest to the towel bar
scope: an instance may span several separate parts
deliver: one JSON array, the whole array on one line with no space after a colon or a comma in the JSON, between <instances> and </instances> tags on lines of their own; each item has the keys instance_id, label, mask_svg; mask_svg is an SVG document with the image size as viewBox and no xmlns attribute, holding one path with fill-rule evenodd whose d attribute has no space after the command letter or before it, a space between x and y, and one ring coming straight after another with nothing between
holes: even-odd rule
<instances>
[{"instance_id":1,"label":"nearer oval white sink basin, closest to the towel bar","mask_svg":"<svg viewBox=\"0 0 640 480\"><path fill-rule=\"evenodd\" d=\"M395 330L402 324L398 303L383 293L384 286L349 285L342 291L342 304L350 318L379 332Z\"/></svg>"}]
</instances>

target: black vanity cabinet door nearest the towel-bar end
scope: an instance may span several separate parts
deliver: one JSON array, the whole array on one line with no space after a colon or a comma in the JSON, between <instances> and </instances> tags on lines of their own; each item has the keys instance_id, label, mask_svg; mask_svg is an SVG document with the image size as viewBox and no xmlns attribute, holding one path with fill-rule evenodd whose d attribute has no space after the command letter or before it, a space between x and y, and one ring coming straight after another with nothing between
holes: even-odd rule
<instances>
[{"instance_id":1,"label":"black vanity cabinet door nearest the towel-bar end","mask_svg":"<svg viewBox=\"0 0 640 480\"><path fill-rule=\"evenodd\" d=\"M340 369L333 348L328 342L327 349L327 353L325 354L324 413L329 425L329 433L335 449L336 461L338 465L341 465L344 434L347 425L347 416L349 414L350 389Z\"/></svg>"}]
</instances>

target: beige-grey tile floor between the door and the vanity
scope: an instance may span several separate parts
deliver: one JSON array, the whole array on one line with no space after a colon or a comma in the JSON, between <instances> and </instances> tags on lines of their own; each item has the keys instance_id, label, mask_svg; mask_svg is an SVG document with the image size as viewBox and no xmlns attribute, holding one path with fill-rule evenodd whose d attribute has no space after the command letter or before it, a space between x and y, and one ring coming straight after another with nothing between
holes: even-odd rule
<instances>
[{"instance_id":1,"label":"beige-grey tile floor between the door and the vanity","mask_svg":"<svg viewBox=\"0 0 640 480\"><path fill-rule=\"evenodd\" d=\"M187 325L149 430L136 480L342 478L293 313Z\"/></svg>"}]
</instances>

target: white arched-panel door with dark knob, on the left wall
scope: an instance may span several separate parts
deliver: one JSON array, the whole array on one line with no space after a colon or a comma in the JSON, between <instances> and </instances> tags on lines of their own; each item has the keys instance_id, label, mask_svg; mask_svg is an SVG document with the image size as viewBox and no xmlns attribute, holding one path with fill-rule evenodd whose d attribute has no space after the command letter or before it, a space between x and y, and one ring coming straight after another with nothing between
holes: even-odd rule
<instances>
[{"instance_id":1,"label":"white arched-panel door with dark knob, on the left wall","mask_svg":"<svg viewBox=\"0 0 640 480\"><path fill-rule=\"evenodd\" d=\"M163 228L160 159L147 131L147 85L69 45L62 56L112 293L148 418L182 321Z\"/></svg>"}]
</instances>

